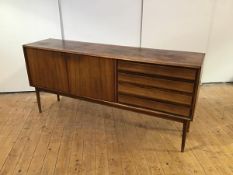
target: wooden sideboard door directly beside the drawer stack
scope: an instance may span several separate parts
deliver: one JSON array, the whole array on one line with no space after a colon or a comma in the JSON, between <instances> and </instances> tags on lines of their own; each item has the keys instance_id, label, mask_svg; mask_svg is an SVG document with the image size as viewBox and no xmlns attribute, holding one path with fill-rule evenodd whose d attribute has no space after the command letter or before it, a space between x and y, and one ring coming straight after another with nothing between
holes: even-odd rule
<instances>
[{"instance_id":1,"label":"wooden sideboard door directly beside the drawer stack","mask_svg":"<svg viewBox=\"0 0 233 175\"><path fill-rule=\"evenodd\" d=\"M115 60L67 54L70 93L115 101Z\"/></svg>"}]
</instances>

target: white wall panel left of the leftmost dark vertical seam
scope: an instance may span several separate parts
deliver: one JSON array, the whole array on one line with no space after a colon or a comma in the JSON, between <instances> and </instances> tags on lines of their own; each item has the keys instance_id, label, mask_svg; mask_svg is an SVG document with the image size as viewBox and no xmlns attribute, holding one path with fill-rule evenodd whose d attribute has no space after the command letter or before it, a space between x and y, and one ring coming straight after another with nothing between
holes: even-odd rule
<instances>
[{"instance_id":1,"label":"white wall panel left of the leftmost dark vertical seam","mask_svg":"<svg viewBox=\"0 0 233 175\"><path fill-rule=\"evenodd\" d=\"M0 0L0 92L32 90L22 44L60 38L56 0Z\"/></svg>"}]
</instances>

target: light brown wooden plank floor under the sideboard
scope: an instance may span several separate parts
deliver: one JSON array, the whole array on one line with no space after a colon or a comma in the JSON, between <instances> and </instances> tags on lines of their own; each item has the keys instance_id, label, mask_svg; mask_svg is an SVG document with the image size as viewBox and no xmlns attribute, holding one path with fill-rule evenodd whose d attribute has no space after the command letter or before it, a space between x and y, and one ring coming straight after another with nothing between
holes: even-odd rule
<instances>
[{"instance_id":1,"label":"light brown wooden plank floor under the sideboard","mask_svg":"<svg viewBox=\"0 0 233 175\"><path fill-rule=\"evenodd\" d=\"M42 93L0 95L0 175L232 175L233 85L201 86L182 124Z\"/></svg>"}]
</instances>

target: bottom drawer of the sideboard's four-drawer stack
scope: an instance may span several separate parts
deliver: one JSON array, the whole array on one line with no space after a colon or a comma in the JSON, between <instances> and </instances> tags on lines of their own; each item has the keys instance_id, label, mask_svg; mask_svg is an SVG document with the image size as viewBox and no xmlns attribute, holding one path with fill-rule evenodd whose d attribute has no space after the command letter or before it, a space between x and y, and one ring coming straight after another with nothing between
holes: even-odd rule
<instances>
[{"instance_id":1,"label":"bottom drawer of the sideboard's four-drawer stack","mask_svg":"<svg viewBox=\"0 0 233 175\"><path fill-rule=\"evenodd\" d=\"M188 117L190 115L190 108L182 105L174 105L163 102L158 102L150 99L138 98L135 96L119 94L119 103L131 105L140 108L157 110L175 115Z\"/></svg>"}]
</instances>

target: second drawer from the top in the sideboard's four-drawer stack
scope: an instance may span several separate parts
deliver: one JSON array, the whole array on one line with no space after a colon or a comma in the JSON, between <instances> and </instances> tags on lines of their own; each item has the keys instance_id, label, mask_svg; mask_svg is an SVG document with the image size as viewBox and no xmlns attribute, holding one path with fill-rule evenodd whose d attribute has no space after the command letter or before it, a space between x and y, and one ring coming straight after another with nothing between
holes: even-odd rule
<instances>
[{"instance_id":1,"label":"second drawer from the top in the sideboard's four-drawer stack","mask_svg":"<svg viewBox=\"0 0 233 175\"><path fill-rule=\"evenodd\" d=\"M192 93L194 88L193 82L168 80L163 78L135 75L123 72L118 73L118 81L142 84L145 86L158 87L187 93Z\"/></svg>"}]
</instances>

